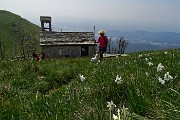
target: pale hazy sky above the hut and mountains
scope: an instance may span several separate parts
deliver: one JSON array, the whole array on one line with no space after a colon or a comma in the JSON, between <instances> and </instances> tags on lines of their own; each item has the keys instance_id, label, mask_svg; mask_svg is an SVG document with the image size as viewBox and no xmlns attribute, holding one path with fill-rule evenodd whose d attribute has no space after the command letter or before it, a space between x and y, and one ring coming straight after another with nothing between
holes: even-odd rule
<instances>
[{"instance_id":1,"label":"pale hazy sky above the hut and mountains","mask_svg":"<svg viewBox=\"0 0 180 120\"><path fill-rule=\"evenodd\" d=\"M51 16L53 29L180 32L180 0L1 0L0 9L40 26Z\"/></svg>"}]
</instances>

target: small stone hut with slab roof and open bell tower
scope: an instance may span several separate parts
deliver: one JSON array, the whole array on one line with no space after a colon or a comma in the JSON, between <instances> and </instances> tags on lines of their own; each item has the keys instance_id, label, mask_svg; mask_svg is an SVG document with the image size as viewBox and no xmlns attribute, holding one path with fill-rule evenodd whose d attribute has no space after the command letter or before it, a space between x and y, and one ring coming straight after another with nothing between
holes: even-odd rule
<instances>
[{"instance_id":1,"label":"small stone hut with slab roof and open bell tower","mask_svg":"<svg viewBox=\"0 0 180 120\"><path fill-rule=\"evenodd\" d=\"M47 20L43 18L47 17L41 16L42 29ZM93 32L54 32L51 27L47 29L49 31L43 29L40 33L40 46L46 58L92 56L96 52Z\"/></svg>"}]
</instances>

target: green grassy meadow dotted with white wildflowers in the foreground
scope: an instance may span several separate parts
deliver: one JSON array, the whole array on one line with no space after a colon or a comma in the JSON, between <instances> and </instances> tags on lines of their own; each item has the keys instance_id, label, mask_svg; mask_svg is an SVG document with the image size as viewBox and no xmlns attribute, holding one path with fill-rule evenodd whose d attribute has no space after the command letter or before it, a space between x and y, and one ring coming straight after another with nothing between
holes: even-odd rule
<instances>
[{"instance_id":1,"label":"green grassy meadow dotted with white wildflowers in the foreground","mask_svg":"<svg viewBox=\"0 0 180 120\"><path fill-rule=\"evenodd\" d=\"M0 61L1 120L179 120L180 50Z\"/></svg>"}]
</instances>

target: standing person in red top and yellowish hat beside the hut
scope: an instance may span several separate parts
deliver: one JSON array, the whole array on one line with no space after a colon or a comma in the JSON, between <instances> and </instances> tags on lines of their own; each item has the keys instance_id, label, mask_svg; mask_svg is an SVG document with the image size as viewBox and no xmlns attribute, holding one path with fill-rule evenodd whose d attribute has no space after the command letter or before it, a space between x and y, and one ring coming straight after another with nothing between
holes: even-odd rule
<instances>
[{"instance_id":1,"label":"standing person in red top and yellowish hat beside the hut","mask_svg":"<svg viewBox=\"0 0 180 120\"><path fill-rule=\"evenodd\" d=\"M108 38L107 38L107 36L105 36L105 31L104 30L100 30L99 35L100 36L98 38L97 43L99 43L100 61L102 61L103 54L106 53L106 47L107 47L107 43L108 43Z\"/></svg>"}]
</instances>

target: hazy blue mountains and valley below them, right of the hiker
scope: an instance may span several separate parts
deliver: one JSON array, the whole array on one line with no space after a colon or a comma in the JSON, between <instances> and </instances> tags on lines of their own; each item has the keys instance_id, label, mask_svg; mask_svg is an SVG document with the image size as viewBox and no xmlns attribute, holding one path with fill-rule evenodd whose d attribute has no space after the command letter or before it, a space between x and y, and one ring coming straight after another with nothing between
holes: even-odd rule
<instances>
[{"instance_id":1,"label":"hazy blue mountains and valley below them, right of the hiker","mask_svg":"<svg viewBox=\"0 0 180 120\"><path fill-rule=\"evenodd\" d=\"M114 41L124 37L129 42L126 52L180 48L180 33L109 30L107 36ZM117 49L117 45L113 45Z\"/></svg>"}]
</instances>

